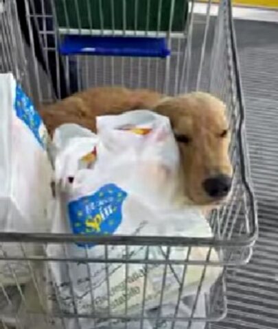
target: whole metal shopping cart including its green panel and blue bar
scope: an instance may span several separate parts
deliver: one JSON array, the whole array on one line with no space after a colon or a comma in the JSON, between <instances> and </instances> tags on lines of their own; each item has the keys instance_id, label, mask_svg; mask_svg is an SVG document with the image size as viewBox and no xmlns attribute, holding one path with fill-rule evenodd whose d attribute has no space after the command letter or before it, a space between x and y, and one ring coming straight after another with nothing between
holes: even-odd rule
<instances>
[{"instance_id":1,"label":"whole metal shopping cart including its green panel and blue bar","mask_svg":"<svg viewBox=\"0 0 278 329\"><path fill-rule=\"evenodd\" d=\"M0 71L12 71L36 104L51 103L89 86L154 88L167 95L206 90L227 103L234 169L229 202L213 210L208 218L213 232L211 239L1 232L0 260L6 264L6 273L1 275L14 278L14 285L0 282L0 327L2 324L3 328L83 329L119 325L119 328L209 328L209 322L222 319L227 313L225 274L231 267L248 262L257 237L231 1L220 1L218 8L210 1L200 4L185 0L0 0L0 16ZM69 46L66 42L74 38L91 42L95 36L117 36L120 42L113 47L108 45L106 53L97 53L92 50L95 47L88 49L84 44L74 51L66 47ZM124 38L135 42L132 56L126 56L121 47L121 42L126 42ZM163 56L143 54L143 46L139 47L135 38L159 40L162 42L159 47L163 45L167 51ZM156 47L151 44L149 50L155 52ZM21 254L10 255L9 243L18 243ZM31 243L40 248L40 256L28 254L27 246ZM67 248L73 243L97 243L103 246L103 255L100 258L92 258L88 253L82 257L69 256ZM46 252L49 245L60 245L64 250L62 256L49 257ZM152 247L161 248L163 257L152 259ZM171 256L177 247L184 249L183 259ZM124 258L111 252L115 248L124 249ZM130 256L134 248L141 252ZM202 260L192 259L196 248L202 251ZM217 257L213 256L215 252ZM14 262L21 262L30 273L30 282L21 284ZM64 286L69 291L67 299L71 305L67 309L62 300L63 287L51 272L54 263L67 265ZM80 310L80 296L73 292L76 282L71 273L72 264L82 264L88 270L84 282L91 298L89 309ZM90 264L103 265L106 312L97 310L99 300L94 297ZM123 269L123 307L117 313L113 312L115 291L109 289L109 268L115 264ZM137 312L130 310L128 302L132 284L129 273L135 265L141 265L143 273ZM161 280L157 289L159 303L150 309L146 296L149 271L153 267L161 269ZM167 276L175 273L176 267L181 273L177 278L179 289L171 311L165 313ZM221 274L204 290L206 273L213 268L221 269ZM198 269L200 275L192 293L183 298L189 269ZM182 315L181 304L187 308Z\"/></svg>"}]
</instances>

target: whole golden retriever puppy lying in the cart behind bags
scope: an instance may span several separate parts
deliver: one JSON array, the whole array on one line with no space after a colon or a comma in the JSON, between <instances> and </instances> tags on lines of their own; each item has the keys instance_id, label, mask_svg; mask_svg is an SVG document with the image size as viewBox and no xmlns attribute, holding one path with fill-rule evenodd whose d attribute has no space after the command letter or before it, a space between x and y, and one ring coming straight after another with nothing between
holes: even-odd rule
<instances>
[{"instance_id":1,"label":"whole golden retriever puppy lying in the cart behind bags","mask_svg":"<svg viewBox=\"0 0 278 329\"><path fill-rule=\"evenodd\" d=\"M229 124L224 103L207 93L163 97L151 90L91 88L40 109L50 133L62 123L95 132L95 117L150 109L169 117L181 153L181 184L192 204L220 204L231 189Z\"/></svg>"}]
</instances>

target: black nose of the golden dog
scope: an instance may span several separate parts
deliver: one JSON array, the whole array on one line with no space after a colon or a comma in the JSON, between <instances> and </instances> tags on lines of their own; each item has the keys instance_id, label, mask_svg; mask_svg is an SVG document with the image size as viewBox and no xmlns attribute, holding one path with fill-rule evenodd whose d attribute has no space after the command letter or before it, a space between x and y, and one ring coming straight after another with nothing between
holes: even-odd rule
<instances>
[{"instance_id":1,"label":"black nose of the golden dog","mask_svg":"<svg viewBox=\"0 0 278 329\"><path fill-rule=\"evenodd\" d=\"M217 175L208 178L202 185L210 197L226 197L231 190L231 177L227 175Z\"/></svg>"}]
</instances>

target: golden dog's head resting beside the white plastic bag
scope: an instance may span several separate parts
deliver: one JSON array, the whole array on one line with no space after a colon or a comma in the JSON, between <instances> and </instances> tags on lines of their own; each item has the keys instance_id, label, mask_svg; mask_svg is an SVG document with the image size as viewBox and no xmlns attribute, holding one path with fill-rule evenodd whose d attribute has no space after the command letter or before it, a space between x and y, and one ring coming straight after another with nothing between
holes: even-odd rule
<instances>
[{"instance_id":1,"label":"golden dog's head resting beside the white plastic bag","mask_svg":"<svg viewBox=\"0 0 278 329\"><path fill-rule=\"evenodd\" d=\"M230 132L224 103L206 93L162 99L181 153L185 194L194 204L221 202L231 189Z\"/></svg>"}]
</instances>

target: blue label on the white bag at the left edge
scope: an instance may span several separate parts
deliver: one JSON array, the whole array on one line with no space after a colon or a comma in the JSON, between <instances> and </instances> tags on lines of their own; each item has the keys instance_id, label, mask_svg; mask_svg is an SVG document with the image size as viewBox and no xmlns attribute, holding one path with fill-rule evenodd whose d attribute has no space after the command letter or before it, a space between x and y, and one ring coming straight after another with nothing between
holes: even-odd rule
<instances>
[{"instance_id":1,"label":"blue label on the white bag at the left edge","mask_svg":"<svg viewBox=\"0 0 278 329\"><path fill-rule=\"evenodd\" d=\"M45 149L47 143L47 130L40 118L38 112L34 108L32 101L25 95L21 86L16 85L16 98L15 98L16 115L21 119L27 127L30 128L36 140Z\"/></svg>"}]
</instances>

